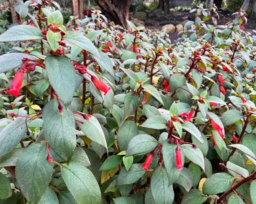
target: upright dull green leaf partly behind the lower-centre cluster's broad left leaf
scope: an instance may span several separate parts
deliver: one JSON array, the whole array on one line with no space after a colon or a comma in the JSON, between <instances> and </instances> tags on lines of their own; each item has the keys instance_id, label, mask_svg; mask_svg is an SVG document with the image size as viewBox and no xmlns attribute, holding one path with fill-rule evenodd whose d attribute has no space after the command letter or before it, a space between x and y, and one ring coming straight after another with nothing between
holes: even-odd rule
<instances>
[{"instance_id":1,"label":"upright dull green leaf partly behind the lower-centre cluster's broad left leaf","mask_svg":"<svg viewBox=\"0 0 256 204\"><path fill-rule=\"evenodd\" d=\"M134 136L137 136L137 134L139 134L139 132L135 122L131 120L125 121L125 123L119 128L117 134L120 150L127 150L129 142Z\"/></svg>"}]
</instances>

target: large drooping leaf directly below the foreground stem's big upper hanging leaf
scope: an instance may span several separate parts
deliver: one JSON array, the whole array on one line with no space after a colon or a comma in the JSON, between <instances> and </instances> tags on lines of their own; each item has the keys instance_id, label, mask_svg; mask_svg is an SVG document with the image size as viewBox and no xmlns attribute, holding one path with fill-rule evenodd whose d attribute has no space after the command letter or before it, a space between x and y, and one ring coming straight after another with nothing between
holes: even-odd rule
<instances>
[{"instance_id":1,"label":"large drooping leaf directly below the foreground stem's big upper hanging leaf","mask_svg":"<svg viewBox=\"0 0 256 204\"><path fill-rule=\"evenodd\" d=\"M63 159L73 154L76 144L75 118L65 106L61 116L56 98L43 108L43 133L51 148Z\"/></svg>"}]
</instances>

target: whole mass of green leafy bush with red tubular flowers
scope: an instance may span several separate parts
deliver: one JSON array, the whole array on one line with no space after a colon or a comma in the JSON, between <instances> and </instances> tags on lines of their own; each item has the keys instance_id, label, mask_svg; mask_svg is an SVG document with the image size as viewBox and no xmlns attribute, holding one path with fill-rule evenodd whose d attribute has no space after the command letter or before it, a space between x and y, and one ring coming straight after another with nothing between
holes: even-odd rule
<instances>
[{"instance_id":1,"label":"whole mass of green leafy bush with red tubular flowers","mask_svg":"<svg viewBox=\"0 0 256 204\"><path fill-rule=\"evenodd\" d=\"M29 7L33 13L29 14ZM1 42L3 203L256 202L255 35L217 8L166 33L17 1ZM17 9L18 8L18 9Z\"/></svg>"}]
</instances>

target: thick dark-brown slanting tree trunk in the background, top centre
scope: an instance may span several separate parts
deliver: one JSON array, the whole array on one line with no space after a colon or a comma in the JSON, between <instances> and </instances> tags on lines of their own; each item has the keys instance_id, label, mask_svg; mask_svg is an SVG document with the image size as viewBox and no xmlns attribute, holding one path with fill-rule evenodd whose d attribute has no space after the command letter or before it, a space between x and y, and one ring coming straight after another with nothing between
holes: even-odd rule
<instances>
[{"instance_id":1,"label":"thick dark-brown slanting tree trunk in the background, top centre","mask_svg":"<svg viewBox=\"0 0 256 204\"><path fill-rule=\"evenodd\" d=\"M95 0L95 2L116 24L129 29L126 20L129 18L129 7L132 0Z\"/></svg>"}]
</instances>

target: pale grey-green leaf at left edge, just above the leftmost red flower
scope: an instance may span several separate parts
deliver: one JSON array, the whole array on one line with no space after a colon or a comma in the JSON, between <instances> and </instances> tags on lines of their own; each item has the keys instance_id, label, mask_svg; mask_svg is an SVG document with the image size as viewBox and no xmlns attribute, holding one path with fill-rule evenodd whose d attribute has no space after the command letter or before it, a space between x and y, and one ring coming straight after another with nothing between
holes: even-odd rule
<instances>
[{"instance_id":1,"label":"pale grey-green leaf at left edge, just above the leftmost red flower","mask_svg":"<svg viewBox=\"0 0 256 204\"><path fill-rule=\"evenodd\" d=\"M20 67L23 62L22 58L29 58L31 60L35 60L36 58L24 53L8 53L0 56L0 73L7 72L12 70L13 68Z\"/></svg>"}]
</instances>

